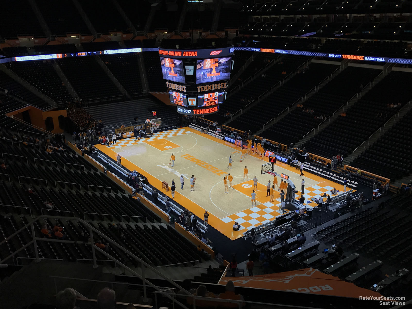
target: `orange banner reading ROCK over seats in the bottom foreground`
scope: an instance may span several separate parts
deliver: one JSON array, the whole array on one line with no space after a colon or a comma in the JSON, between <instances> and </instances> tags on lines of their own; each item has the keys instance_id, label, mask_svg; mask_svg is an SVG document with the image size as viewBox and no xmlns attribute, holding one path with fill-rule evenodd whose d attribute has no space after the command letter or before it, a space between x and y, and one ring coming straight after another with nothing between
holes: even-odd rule
<instances>
[{"instance_id":1,"label":"orange banner reading ROCK over seats in the bottom foreground","mask_svg":"<svg viewBox=\"0 0 412 309\"><path fill-rule=\"evenodd\" d=\"M314 268L279 272L259 276L225 277L219 284L226 285L232 280L235 286L244 288L262 288L267 290L311 293L358 298L360 296L382 297L381 294L360 288L338 277L324 274Z\"/></svg>"}]
</instances>

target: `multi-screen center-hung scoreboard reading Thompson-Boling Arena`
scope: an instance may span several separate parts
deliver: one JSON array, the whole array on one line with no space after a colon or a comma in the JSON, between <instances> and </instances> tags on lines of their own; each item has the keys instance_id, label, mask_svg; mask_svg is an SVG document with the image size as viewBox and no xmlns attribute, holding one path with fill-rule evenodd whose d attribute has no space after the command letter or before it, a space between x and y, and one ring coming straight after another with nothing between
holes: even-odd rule
<instances>
[{"instance_id":1,"label":"multi-screen center-hung scoreboard reading Thompson-Boling Arena","mask_svg":"<svg viewBox=\"0 0 412 309\"><path fill-rule=\"evenodd\" d=\"M183 115L219 111L233 66L233 46L220 49L164 49L159 47L163 79L170 102Z\"/></svg>"}]
</instances>

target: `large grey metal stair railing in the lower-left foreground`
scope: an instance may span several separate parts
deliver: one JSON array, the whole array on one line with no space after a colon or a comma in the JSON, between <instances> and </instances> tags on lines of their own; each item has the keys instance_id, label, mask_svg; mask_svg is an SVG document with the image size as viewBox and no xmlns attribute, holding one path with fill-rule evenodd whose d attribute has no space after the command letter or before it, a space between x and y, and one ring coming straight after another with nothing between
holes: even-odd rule
<instances>
[{"instance_id":1,"label":"large grey metal stair railing in the lower-left foreground","mask_svg":"<svg viewBox=\"0 0 412 309\"><path fill-rule=\"evenodd\" d=\"M155 274L161 276L161 278L165 279L167 282L169 282L172 286L174 286L175 288L178 288L180 290L183 291L183 293L185 293L186 295L191 295L189 293L189 291L185 290L184 288L182 288L181 286L179 286L176 282L172 281L171 279L169 279L168 277L164 276L164 274L162 274L161 272L159 272L157 269L155 269L154 267L151 267L149 264L147 264L145 261L141 260L140 258L138 258L136 255L134 255L133 253L131 253L129 250L127 250L126 248L123 248L122 246L120 246L118 243L116 243L115 241L113 241L112 239L108 238L108 236L106 236L105 234L103 234L102 232L100 232L98 229L92 227L91 225L89 225L87 222L85 222L84 220L80 219L80 218L76 218L76 217L63 217L65 220L75 220L78 221L80 223L82 223L85 227L87 227L89 229L89 235L90 235L90 239L91 242L88 243L91 246L91 251L92 251L92 255L93 255L93 267L97 268L97 263L96 263L96 250L98 252L100 252L102 255L105 255L106 257L108 257L110 260L114 261L115 263L117 263L118 265L124 267L124 269L127 269L131 274L133 274L134 276L140 278L143 281L143 295L144 295L144 299L147 299L147 290L146 290L146 285L151 286L152 288L156 289L156 290L160 290L160 288L158 288L157 286L155 286L153 283L151 283L150 281L148 281L146 279L145 276L145 268L148 268L150 270L152 270L152 272L155 272ZM37 218L35 218L34 220L30 221L28 224L24 225L23 227L21 227L20 229L18 229L16 232L14 232L12 235L8 236L6 239L4 239L3 241L0 242L0 245L4 244L6 241L9 241L9 239L11 239L12 237L16 236L17 234L19 234L21 231L23 231L24 229L26 229L27 227L29 227L31 225L31 231L32 231L32 237L33 239L27 243L26 245L22 246L20 249L16 250L14 253L11 253L9 256L7 256L6 258L0 260L0 263L3 264L5 261L7 261L10 258L13 258L14 255L16 255L17 253L19 253L21 250L24 250L25 248L27 248L28 246L33 244L34 247L34 253L35 253L35 260L36 261L40 261L39 255L38 255L38 251L37 251L37 241L49 241L49 242L60 242L60 243L76 243L75 241L68 241L68 240L61 240L61 239L49 239L49 238L40 238L40 237L36 237L35 234L35 228L34 228L34 222L42 222L44 219L61 219L61 217L58 216L49 216L49 215L42 215L39 216ZM112 257L110 254L108 254L107 252L105 252L105 250L102 250L96 246L94 246L94 238L93 238L93 232L95 232L96 234L98 234L102 239L105 239L108 243L110 243L113 247L117 248L117 251L123 252L127 255L129 255L129 257L133 258L134 260L138 261L141 265L141 274L138 274L136 271L134 271L133 269L131 269L130 267L127 267L126 265L124 265L122 262L120 262L119 260L117 260L116 258ZM165 295L166 297L168 297L169 299L173 300L173 297L169 296L169 295ZM176 301L176 300L174 300ZM183 308L185 308L185 306L183 304L181 304L180 302L176 303L180 306L182 306Z\"/></svg>"}]
</instances>

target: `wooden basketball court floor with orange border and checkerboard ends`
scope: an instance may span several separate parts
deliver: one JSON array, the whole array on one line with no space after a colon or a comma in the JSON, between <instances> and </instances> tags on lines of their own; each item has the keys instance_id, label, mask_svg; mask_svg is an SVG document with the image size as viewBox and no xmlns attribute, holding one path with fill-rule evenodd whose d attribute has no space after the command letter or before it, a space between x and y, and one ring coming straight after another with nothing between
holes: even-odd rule
<instances>
[{"instance_id":1,"label":"wooden basketball court floor with orange border and checkerboard ends","mask_svg":"<svg viewBox=\"0 0 412 309\"><path fill-rule=\"evenodd\" d=\"M152 138L134 140L126 138L117 140L110 147L96 145L96 147L113 159L119 153L122 156L122 165L129 170L136 169L145 175L149 183L159 191L168 195L171 193L162 189L162 181L171 185L172 180L176 183L175 200L203 219L204 211L209 215L209 224L218 229L222 234L234 240L242 236L243 232L262 223L274 220L280 215L279 191L276 188L275 199L270 202L266 197L266 185L273 176L261 175L262 164L267 163L267 157L257 155L246 155L243 162L240 160L239 147L219 140L212 136L202 134L189 127L174 129L155 133ZM172 167L171 154L176 157L175 165ZM232 169L228 169L228 158L232 156ZM243 169L247 166L249 180L243 180ZM277 173L285 173L301 194L301 181L305 180L304 197L305 204L311 207L311 197L318 197L326 192L329 193L333 187L343 191L343 185L326 180L319 176L305 173L299 176L299 171L284 163L278 163ZM223 178L230 173L233 176L232 188L229 193L224 193ZM184 177L183 190L180 185L180 175ZM197 178L194 191L190 191L190 177ZM258 190L256 190L256 206L252 206L251 196L253 190L253 177L258 178ZM281 178L278 178L280 183ZM227 182L229 185L229 182ZM233 231L234 221L241 224L238 232Z\"/></svg>"}]
</instances>

